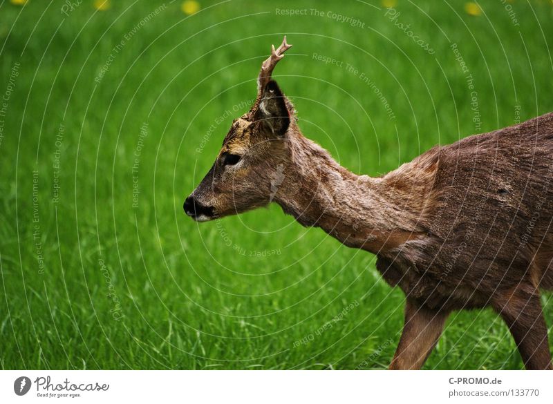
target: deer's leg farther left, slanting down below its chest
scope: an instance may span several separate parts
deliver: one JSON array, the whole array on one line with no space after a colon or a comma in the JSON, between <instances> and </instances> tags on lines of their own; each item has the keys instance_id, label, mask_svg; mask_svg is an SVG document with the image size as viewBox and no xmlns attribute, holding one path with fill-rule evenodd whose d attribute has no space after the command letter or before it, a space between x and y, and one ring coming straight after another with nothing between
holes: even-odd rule
<instances>
[{"instance_id":1,"label":"deer's leg farther left, slanting down below its chest","mask_svg":"<svg viewBox=\"0 0 553 404\"><path fill-rule=\"evenodd\" d=\"M420 369L438 343L448 314L407 298L402 337L390 369Z\"/></svg>"}]
</instances>

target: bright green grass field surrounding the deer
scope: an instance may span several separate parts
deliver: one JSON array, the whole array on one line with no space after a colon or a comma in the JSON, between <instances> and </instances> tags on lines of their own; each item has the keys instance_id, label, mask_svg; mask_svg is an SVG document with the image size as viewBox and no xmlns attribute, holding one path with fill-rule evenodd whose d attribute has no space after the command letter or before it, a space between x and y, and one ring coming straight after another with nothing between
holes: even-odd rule
<instances>
[{"instance_id":1,"label":"bright green grass field surrounding the deer","mask_svg":"<svg viewBox=\"0 0 553 404\"><path fill-rule=\"evenodd\" d=\"M404 295L374 256L279 206L207 224L182 212L283 34L294 48L274 77L303 133L355 173L553 110L549 1L13 3L0 1L2 369L388 365ZM482 310L453 314L424 368L522 367Z\"/></svg>"}]
</instances>

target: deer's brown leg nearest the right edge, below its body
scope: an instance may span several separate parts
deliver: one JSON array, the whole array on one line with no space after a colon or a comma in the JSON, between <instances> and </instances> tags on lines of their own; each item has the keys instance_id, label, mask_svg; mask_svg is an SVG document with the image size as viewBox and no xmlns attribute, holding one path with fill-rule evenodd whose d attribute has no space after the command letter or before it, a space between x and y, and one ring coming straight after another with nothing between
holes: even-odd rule
<instances>
[{"instance_id":1,"label":"deer's brown leg nearest the right edge, below its body","mask_svg":"<svg viewBox=\"0 0 553 404\"><path fill-rule=\"evenodd\" d=\"M500 294L494 308L507 323L526 369L552 369L539 294L530 289L519 285L514 291Z\"/></svg>"}]
</instances>

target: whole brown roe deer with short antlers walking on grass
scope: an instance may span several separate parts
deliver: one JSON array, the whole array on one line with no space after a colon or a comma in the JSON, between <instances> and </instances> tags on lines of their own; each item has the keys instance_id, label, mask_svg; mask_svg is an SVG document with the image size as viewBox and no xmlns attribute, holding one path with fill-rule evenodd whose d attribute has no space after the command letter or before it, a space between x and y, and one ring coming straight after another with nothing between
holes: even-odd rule
<instances>
[{"instance_id":1,"label":"whole brown roe deer with short antlers walking on grass","mask_svg":"<svg viewBox=\"0 0 553 404\"><path fill-rule=\"evenodd\" d=\"M205 222L274 202L375 254L406 296L389 369L420 369L452 311L484 307L505 321L526 369L552 369L540 291L553 289L553 113L357 175L303 136L272 79L290 47L286 37L272 46L252 108L232 122L185 213Z\"/></svg>"}]
</instances>

